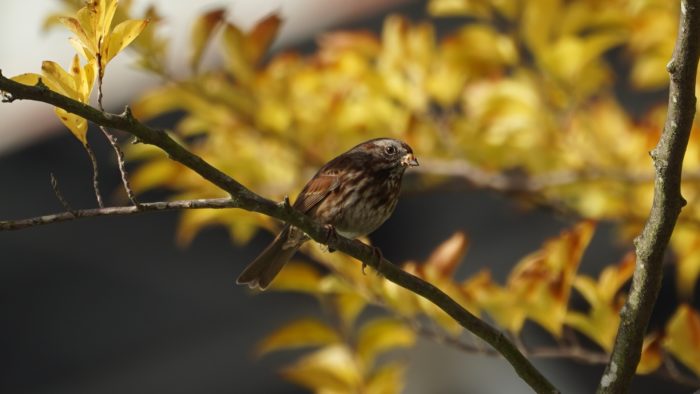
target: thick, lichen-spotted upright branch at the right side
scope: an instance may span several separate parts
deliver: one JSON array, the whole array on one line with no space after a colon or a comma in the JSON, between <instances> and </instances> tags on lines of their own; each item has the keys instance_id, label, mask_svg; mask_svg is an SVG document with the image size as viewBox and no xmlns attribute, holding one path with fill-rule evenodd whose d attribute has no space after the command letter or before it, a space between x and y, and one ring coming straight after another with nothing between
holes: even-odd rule
<instances>
[{"instance_id":1,"label":"thick, lichen-spotted upright branch at the right side","mask_svg":"<svg viewBox=\"0 0 700 394\"><path fill-rule=\"evenodd\" d=\"M615 346L598 393L625 393L641 357L644 334L661 287L663 257L685 205L681 171L695 116L695 74L700 51L700 1L682 0L678 38L668 63L671 76L668 114L658 145L651 151L656 178L654 202L642 234L635 240L637 266L622 312Z\"/></svg>"}]
</instances>

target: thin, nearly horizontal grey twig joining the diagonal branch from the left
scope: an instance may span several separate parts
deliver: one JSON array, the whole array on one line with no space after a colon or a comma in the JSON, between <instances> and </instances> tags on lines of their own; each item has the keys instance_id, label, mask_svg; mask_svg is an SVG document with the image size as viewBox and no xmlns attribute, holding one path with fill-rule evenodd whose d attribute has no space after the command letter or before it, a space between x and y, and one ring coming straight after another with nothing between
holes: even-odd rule
<instances>
[{"instance_id":1,"label":"thin, nearly horizontal grey twig joining the diagonal branch from the left","mask_svg":"<svg viewBox=\"0 0 700 394\"><path fill-rule=\"evenodd\" d=\"M141 212L172 211L179 209L224 209L239 207L240 204L235 199L205 198L198 200L149 202L142 203L138 207L130 205L126 207L108 207L79 210L67 209L66 212L53 213L50 215L37 216L33 218L18 220L2 220L0 221L0 231L22 230L29 227L37 227L60 222L70 222L77 219L93 218L97 216L125 216Z\"/></svg>"}]
</instances>

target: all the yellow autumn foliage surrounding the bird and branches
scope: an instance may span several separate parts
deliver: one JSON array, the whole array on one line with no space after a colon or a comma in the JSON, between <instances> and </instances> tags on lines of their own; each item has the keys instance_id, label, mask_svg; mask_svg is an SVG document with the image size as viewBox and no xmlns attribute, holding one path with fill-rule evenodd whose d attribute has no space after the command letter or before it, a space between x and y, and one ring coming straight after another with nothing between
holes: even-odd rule
<instances>
[{"instance_id":1,"label":"all the yellow autumn foliage surrounding the bird and branches","mask_svg":"<svg viewBox=\"0 0 700 394\"><path fill-rule=\"evenodd\" d=\"M358 141L391 136L419 152L419 191L445 181L440 169L457 169L449 175L467 179L471 172L459 169L477 169L508 175L510 183L489 185L497 191L582 218L533 245L504 283L478 261L469 264L481 271L455 277L469 243L462 233L436 245L425 261L402 266L513 337L531 321L552 338L574 330L599 347L594 350L612 350L634 254L609 262L597 277L578 269L596 223L616 223L631 250L650 210L648 152L666 112L659 92L668 85L676 1L432 0L423 21L390 15L379 33L330 32L308 55L269 55L283 23L278 16L242 31L216 9L193 21L189 57L178 59L189 64L184 77L169 70L168 40L158 33L167 22L154 8L130 16L129 1L119 7L114 0L64 3L71 16L58 21L74 35L70 68L46 61L41 74L17 81L41 78L49 89L88 102L109 61L130 45L136 64L163 81L135 100L134 115L148 120L180 113L172 135L261 195L296 195L329 158ZM437 34L445 17L459 23ZM215 55L214 66L203 65L207 53ZM620 98L630 95L648 104L639 110ZM56 114L88 143L84 119L60 109ZM694 132L688 146L688 205L671 240L676 284L686 300L700 276L699 138ZM153 147L129 146L127 158L140 162L131 177L138 192L166 188L181 199L225 195ZM182 213L178 241L187 243L210 225L225 226L233 241L245 243L279 223L243 210L190 210ZM405 364L387 361L384 353L411 348L426 335L471 346L463 343L463 328L425 299L363 275L340 253L312 244L302 250L323 268L293 261L271 289L309 294L334 319L300 318L261 340L260 356L310 349L282 370L285 378L317 392L399 392ZM572 294L587 306L572 309ZM361 318L370 305L386 313ZM438 331L426 329L433 323ZM674 359L700 379L699 338L700 312L683 304L663 330L648 334L638 373L657 372Z\"/></svg>"}]
</instances>

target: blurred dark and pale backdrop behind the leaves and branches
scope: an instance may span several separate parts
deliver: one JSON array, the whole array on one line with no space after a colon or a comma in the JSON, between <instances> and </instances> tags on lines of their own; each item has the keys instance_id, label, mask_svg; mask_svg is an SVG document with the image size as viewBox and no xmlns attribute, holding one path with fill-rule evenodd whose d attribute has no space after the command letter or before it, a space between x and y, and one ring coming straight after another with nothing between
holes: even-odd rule
<instances>
[{"instance_id":1,"label":"blurred dark and pale backdrop behind the leaves and branches","mask_svg":"<svg viewBox=\"0 0 700 394\"><path fill-rule=\"evenodd\" d=\"M167 20L175 54L186 51L193 15L214 6L226 6L230 18L243 27L270 12L281 13L285 23L274 50L311 48L314 37L328 29L379 32L388 13L427 17L424 2L407 0L134 1L137 9L150 3L158 4ZM69 34L40 31L44 17L54 10L53 1L12 1L2 7L4 75L38 71L48 58L69 62ZM129 61L126 55L110 66L107 110L121 110L157 83L129 69ZM159 122L167 126L174 118ZM119 187L112 152L94 130L90 134L102 168L102 189L110 196ZM39 103L0 105L0 218L61 211L51 173L73 207L94 206L89 161L51 109ZM159 196L164 194L150 197ZM117 200L113 193L108 198ZM270 235L260 233L245 247L236 247L224 229L212 227L181 248L174 242L177 217L174 212L146 213L0 234L0 391L305 392L276 372L295 353L258 360L253 349L282 323L321 315L317 303L297 294L253 295L234 284ZM372 240L392 261L420 260L461 230L471 246L458 276L489 267L503 281L519 258L571 223L550 211L524 210L501 195L457 185L406 194ZM626 249L611 246L612 238L611 226L603 223L581 272L597 275L602 266L619 261ZM675 309L675 293L669 288L664 287L659 314ZM534 337L540 334L537 327L528 329ZM410 365L406 393L529 392L499 358L428 340L403 357ZM566 393L593 392L602 373L601 366L568 360L536 360L536 365ZM660 388L688 391L658 377L638 378L632 391Z\"/></svg>"}]
</instances>

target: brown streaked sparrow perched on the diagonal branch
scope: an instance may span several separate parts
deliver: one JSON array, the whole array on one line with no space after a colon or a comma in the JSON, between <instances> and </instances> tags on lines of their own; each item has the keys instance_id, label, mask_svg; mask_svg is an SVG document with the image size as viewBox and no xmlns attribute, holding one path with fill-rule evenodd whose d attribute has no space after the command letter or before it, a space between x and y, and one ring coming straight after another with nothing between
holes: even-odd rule
<instances>
[{"instance_id":1,"label":"brown streaked sparrow perched on the diagonal branch","mask_svg":"<svg viewBox=\"0 0 700 394\"><path fill-rule=\"evenodd\" d=\"M417 165L413 150L403 141L363 142L321 167L302 189L294 208L344 237L367 235L389 218L404 171ZM308 239L286 225L236 282L265 289Z\"/></svg>"}]
</instances>

